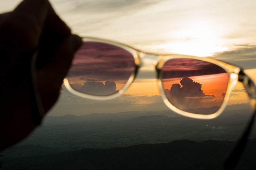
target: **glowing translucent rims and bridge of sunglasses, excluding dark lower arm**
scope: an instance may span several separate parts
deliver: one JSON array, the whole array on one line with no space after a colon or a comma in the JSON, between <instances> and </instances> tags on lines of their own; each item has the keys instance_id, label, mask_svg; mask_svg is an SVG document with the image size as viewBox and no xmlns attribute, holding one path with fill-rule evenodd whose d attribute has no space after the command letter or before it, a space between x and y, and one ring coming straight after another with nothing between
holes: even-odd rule
<instances>
[{"instance_id":1,"label":"glowing translucent rims and bridge of sunglasses, excluding dark lower arm","mask_svg":"<svg viewBox=\"0 0 256 170\"><path fill-rule=\"evenodd\" d=\"M101 100L101 101L117 98L120 95L122 95L127 90L127 88L132 84L133 80L136 78L136 75L137 75L139 69L144 65L151 64L151 65L154 66L155 70L157 71L157 84L158 84L158 88L159 88L159 91L161 93L163 102L171 110L173 110L174 112L176 112L178 114L181 114L183 116L197 118L197 119L212 119L212 118L215 118L215 117L219 116L223 112L223 110L225 109L225 107L227 105L227 102L228 102L228 99L231 95L231 92L232 92L234 86L241 79L241 73L243 73L244 78L247 79L247 82L246 81L241 81L241 82L243 82L243 84L246 88L246 91L247 91L247 93L248 93L248 95L251 99L251 103L255 103L255 101L256 101L256 90L255 90L256 87L255 87L255 85L254 85L255 88L252 88L252 89L248 87L248 81L252 82L252 80L249 78L249 76L247 76L242 71L242 69L240 67L230 65L230 64L227 64L227 63L224 63L222 61L215 60L215 59L209 58L209 57L197 57L197 56L188 56L188 55L182 55L182 54L146 53L146 52L142 52L138 49L132 48L131 46L124 45L124 44L114 42L114 41L109 41L109 40L106 40L106 39L99 39L99 38L93 38L93 37L83 37L83 41L84 42L100 42L100 43L110 44L110 45L114 45L114 46L117 46L119 48L122 48L122 49L124 49L124 50L126 50L126 51L128 51L129 53L132 54L136 67L135 67L133 73L131 74L130 78L128 79L127 83L124 85L123 88L121 88L118 92L116 92L114 94L106 95L106 96L90 95L90 94L85 94L83 92L76 91L75 89L73 89L70 86L70 84L68 82L68 79L65 78L64 79L65 87L71 93L73 93L74 95L78 95L80 97L84 97L84 98L88 98L88 99ZM212 113L212 114L207 114L207 115L189 113L189 112L185 112L183 110L178 109L177 107L172 105L172 103L169 102L169 100L167 99L167 97L165 95L163 86L162 86L162 81L161 81L162 71L161 71L161 69L163 68L166 61L176 59L176 58L190 58L190 59L195 59L195 60L200 60L200 61L206 61L208 63L215 64L215 65L223 68L226 71L226 73L229 76L226 95L223 99L223 102L222 102L221 106L217 110L217 112ZM252 102L252 100L255 100L255 101Z\"/></svg>"}]
</instances>

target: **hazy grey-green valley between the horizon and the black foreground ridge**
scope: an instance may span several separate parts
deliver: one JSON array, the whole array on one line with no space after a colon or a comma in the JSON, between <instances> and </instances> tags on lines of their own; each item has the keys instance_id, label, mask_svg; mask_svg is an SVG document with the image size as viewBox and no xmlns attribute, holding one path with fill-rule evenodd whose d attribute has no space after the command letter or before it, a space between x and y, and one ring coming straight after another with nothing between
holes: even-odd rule
<instances>
[{"instance_id":1,"label":"hazy grey-green valley between the horizon and the black foreground ridge","mask_svg":"<svg viewBox=\"0 0 256 170\"><path fill-rule=\"evenodd\" d=\"M248 110L225 110L219 117L210 120L184 117L171 110L46 117L44 124L18 145L73 151L86 147L125 147L181 139L235 141L244 132L249 120ZM256 127L250 136L256 137ZM50 150L45 148L45 151L48 154Z\"/></svg>"}]
</instances>

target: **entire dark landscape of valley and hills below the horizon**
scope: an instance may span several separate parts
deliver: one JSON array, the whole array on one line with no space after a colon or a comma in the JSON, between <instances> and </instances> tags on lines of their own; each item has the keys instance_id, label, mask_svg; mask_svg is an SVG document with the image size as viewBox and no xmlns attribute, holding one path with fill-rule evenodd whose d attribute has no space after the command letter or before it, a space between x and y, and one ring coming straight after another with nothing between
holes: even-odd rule
<instances>
[{"instance_id":1,"label":"entire dark landscape of valley and hills below the horizon","mask_svg":"<svg viewBox=\"0 0 256 170\"><path fill-rule=\"evenodd\" d=\"M212 120L170 110L49 116L0 160L4 170L219 170L249 118L248 103L228 106ZM237 170L256 167L255 132Z\"/></svg>"}]
</instances>

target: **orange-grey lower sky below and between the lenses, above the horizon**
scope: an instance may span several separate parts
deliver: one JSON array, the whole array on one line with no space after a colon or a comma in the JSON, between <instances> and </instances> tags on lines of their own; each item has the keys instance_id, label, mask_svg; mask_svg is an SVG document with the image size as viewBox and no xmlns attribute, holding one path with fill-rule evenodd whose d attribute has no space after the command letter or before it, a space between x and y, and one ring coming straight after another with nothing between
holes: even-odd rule
<instances>
[{"instance_id":1,"label":"orange-grey lower sky below and between the lenses, above the horizon","mask_svg":"<svg viewBox=\"0 0 256 170\"><path fill-rule=\"evenodd\" d=\"M245 70L248 75L256 80L256 69ZM150 78L145 79L144 75L149 73ZM154 70L149 68L142 69L137 79L132 83L131 87L124 95L111 101L94 101L71 95L67 90L63 89L59 101L50 111L50 116L61 116L65 114L84 115L91 113L117 113L125 111L155 111L168 110L160 97L157 87L157 79L155 79ZM241 83L235 86L236 91L232 92L229 99L230 104L249 102L248 95L243 90Z\"/></svg>"}]
</instances>

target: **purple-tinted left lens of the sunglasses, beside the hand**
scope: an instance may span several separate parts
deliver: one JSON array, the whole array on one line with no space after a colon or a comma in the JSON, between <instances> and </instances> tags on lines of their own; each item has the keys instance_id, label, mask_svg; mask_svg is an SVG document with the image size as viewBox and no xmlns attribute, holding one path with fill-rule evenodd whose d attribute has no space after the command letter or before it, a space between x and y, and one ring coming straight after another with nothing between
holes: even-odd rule
<instances>
[{"instance_id":1,"label":"purple-tinted left lens of the sunglasses, beside the hand","mask_svg":"<svg viewBox=\"0 0 256 170\"><path fill-rule=\"evenodd\" d=\"M84 42L74 56L67 79L77 91L103 96L123 88L134 71L134 58L126 50L100 42Z\"/></svg>"}]
</instances>

